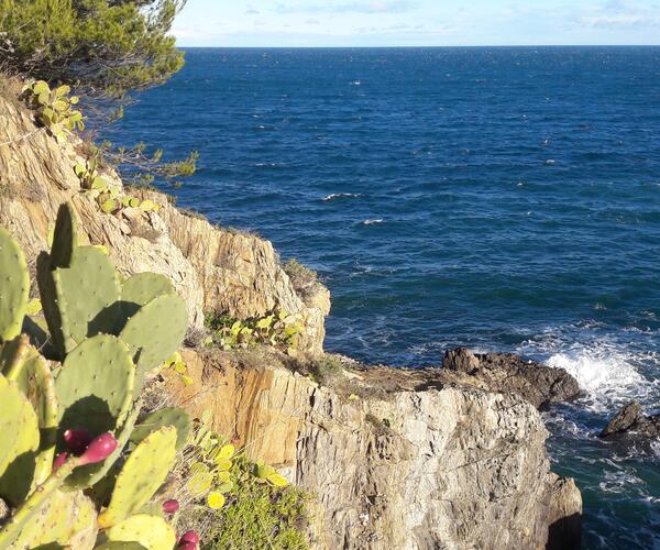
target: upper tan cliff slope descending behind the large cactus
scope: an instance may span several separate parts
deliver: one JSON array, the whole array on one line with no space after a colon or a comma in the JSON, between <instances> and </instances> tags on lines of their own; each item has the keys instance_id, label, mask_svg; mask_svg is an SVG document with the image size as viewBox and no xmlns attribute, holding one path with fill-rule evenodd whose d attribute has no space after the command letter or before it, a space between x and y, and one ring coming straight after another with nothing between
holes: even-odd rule
<instances>
[{"instance_id":1,"label":"upper tan cliff slope descending behind the large cactus","mask_svg":"<svg viewBox=\"0 0 660 550\"><path fill-rule=\"evenodd\" d=\"M208 312L244 319L282 309L300 316L305 332L299 350L322 351L330 309L324 286L316 284L302 297L268 241L187 216L158 193L148 193L161 207L158 212L139 208L127 208L119 216L101 212L91 197L80 193L74 173L76 164L85 164L84 147L76 138L57 143L35 127L30 111L0 97L0 226L20 241L32 270L38 253L48 248L57 208L70 200L80 220L80 243L105 245L123 276L144 271L167 275L188 305L193 329L204 326ZM112 170L102 175L123 187Z\"/></svg>"}]
</instances>

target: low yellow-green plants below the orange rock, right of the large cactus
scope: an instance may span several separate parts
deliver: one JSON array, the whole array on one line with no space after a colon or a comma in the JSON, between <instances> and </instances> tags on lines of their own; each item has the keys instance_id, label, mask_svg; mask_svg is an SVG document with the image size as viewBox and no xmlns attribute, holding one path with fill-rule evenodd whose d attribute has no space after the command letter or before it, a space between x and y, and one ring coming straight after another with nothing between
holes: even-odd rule
<instances>
[{"instance_id":1,"label":"low yellow-green plants below the orange rock, right of the large cactus","mask_svg":"<svg viewBox=\"0 0 660 550\"><path fill-rule=\"evenodd\" d=\"M307 496L273 466L254 463L210 428L210 414L194 421L175 471L179 530L194 528L209 549L307 549Z\"/></svg>"}]
</instances>

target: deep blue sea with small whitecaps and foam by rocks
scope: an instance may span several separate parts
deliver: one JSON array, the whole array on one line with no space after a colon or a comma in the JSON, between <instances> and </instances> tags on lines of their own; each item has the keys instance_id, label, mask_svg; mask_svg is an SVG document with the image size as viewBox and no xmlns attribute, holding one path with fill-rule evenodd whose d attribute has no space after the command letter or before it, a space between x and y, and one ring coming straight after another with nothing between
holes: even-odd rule
<instances>
[{"instance_id":1,"label":"deep blue sea with small whitecaps and foam by rocks","mask_svg":"<svg viewBox=\"0 0 660 550\"><path fill-rule=\"evenodd\" d=\"M318 271L329 351L573 374L544 418L584 548L660 548L660 442L596 438L660 407L660 47L190 50L140 100L113 138L198 150L178 205Z\"/></svg>"}]
</instances>

